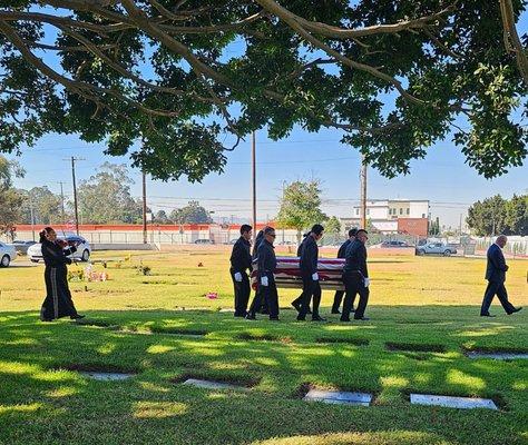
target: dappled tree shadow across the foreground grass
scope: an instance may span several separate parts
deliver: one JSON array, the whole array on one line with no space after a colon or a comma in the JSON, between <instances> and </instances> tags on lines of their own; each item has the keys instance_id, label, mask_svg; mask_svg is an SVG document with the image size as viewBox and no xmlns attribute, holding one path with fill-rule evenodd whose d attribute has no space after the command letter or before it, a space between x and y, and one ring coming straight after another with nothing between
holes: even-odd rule
<instances>
[{"instance_id":1,"label":"dappled tree shadow across the foreground grass","mask_svg":"<svg viewBox=\"0 0 528 445\"><path fill-rule=\"evenodd\" d=\"M420 309L427 316L433 313L439 318L450 316L453 324L424 328L388 322L390 315L401 319L405 312L410 314ZM101 437L117 439L111 431L119 424L119 441L129 443L146 443L156 437L173 443L268 441L272 444L273 437L284 437L284 441L295 436L321 437L322 433L341 434L351 429L360 435L383 435L399 429L446 443L469 445L475 443L477 427L482 445L521 443L519 425L526 396L518 385L519 389L515 387L522 378L522 368L507 370L502 364L477 364L457 353L461 343L473 339L475 333L481 329L497 330L492 337L477 337L480 344L490 338L493 344L522 340L526 337L521 337L521 326L511 325L512 319L507 319L508 324L495 322L493 325L473 320L468 314L472 314L475 307L374 306L371 310L374 317L369 325L375 329L368 325L299 325L293 323L294 314L290 317L292 323L286 318L278 325L266 320L252 325L252 335L268 335L274 339L290 336L299 340L294 347L276 340L252 340L241 346L236 340L241 329L246 329L247 325L216 312L94 314L94 318L110 326L204 330L208 333L205 342L176 336L129 336L88 327L78 329L68 322L43 325L36 320L36 313L0 314L2 406L27 405L28 399L41 405L19 417L0 408L0 442L36 443L31 437L41 437L42 443L60 437L74 444L86 443L88 438L95 442ZM384 314L383 323L377 324L377 314ZM514 328L500 329L508 326ZM329 338L343 338L351 343L358 339L359 332L360 340L369 343L362 344L364 347L361 348L346 348L346 344L341 342L327 342ZM326 342L317 343L322 338ZM431 338L441 338L447 349L453 353L415 360L384 349L388 339L430 345L433 344ZM68 364L76 365L77 369L90 366L108 370L114 367L136 369L139 374L133 380L118 384L87 382L75 375L53 375L52 369ZM233 394L197 390L170 383L170 379L185 376L246 382L255 386L251 394ZM377 406L369 408L305 404L292 397L295 392L301 394L303 384L306 387L371 392L379 394L379 398ZM431 393L434 388L442 394L501 400L500 406L510 409L508 415L511 417L501 418L500 413L410 407L402 397L405 390ZM75 407L77 411L72 409ZM157 408L145 414L149 407ZM166 415L167 409L163 407L173 407L174 415ZM431 413L434 413L433 422ZM300 418L309 422L299 422ZM53 428L47 427L50 424L55 425ZM208 427L197 428L196 425L201 424ZM72 427L75 434L70 431Z\"/></svg>"}]
</instances>

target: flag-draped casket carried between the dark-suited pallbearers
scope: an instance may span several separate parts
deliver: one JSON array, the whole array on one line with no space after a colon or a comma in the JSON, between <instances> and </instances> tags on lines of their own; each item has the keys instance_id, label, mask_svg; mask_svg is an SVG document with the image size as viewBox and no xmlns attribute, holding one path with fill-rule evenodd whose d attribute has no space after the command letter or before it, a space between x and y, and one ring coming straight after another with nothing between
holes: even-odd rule
<instances>
[{"instance_id":1,"label":"flag-draped casket carried between the dark-suited pallbearers","mask_svg":"<svg viewBox=\"0 0 528 445\"><path fill-rule=\"evenodd\" d=\"M341 258L319 258L317 274L322 289L344 290L342 274L345 260ZM257 265L253 265L251 274L252 287L256 289ZM299 268L299 257L277 257L277 268L275 270L275 283L277 287L302 289L303 280Z\"/></svg>"}]
</instances>

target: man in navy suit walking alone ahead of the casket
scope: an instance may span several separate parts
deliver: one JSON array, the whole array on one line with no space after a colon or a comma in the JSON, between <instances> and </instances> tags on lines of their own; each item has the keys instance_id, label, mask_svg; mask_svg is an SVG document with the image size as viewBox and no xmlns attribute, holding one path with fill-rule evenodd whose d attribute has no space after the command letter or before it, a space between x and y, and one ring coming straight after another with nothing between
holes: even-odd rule
<instances>
[{"instance_id":1,"label":"man in navy suit walking alone ahead of the casket","mask_svg":"<svg viewBox=\"0 0 528 445\"><path fill-rule=\"evenodd\" d=\"M507 241L508 238L505 235L500 235L495 244L492 244L488 249L488 265L486 267L488 287L486 288L482 307L480 308L481 317L495 317L495 315L489 314L489 307L491 306L491 300L496 295L499 297L499 301L505 308L506 314L511 315L522 309L521 307L515 307L510 301L508 301L508 293L505 287L508 266L506 265L506 259L502 255L502 248L506 246Z\"/></svg>"}]
</instances>

